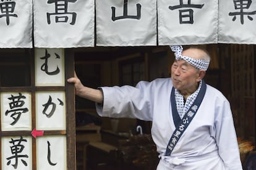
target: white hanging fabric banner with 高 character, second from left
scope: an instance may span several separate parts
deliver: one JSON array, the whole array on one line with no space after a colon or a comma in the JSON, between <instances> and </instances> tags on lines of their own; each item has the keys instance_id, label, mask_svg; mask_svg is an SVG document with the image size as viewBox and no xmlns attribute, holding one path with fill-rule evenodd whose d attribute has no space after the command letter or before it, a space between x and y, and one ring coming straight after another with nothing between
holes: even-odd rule
<instances>
[{"instance_id":1,"label":"white hanging fabric banner with \u9ad8 character, second from left","mask_svg":"<svg viewBox=\"0 0 256 170\"><path fill-rule=\"evenodd\" d=\"M33 0L35 47L94 46L94 0Z\"/></svg>"}]
</instances>

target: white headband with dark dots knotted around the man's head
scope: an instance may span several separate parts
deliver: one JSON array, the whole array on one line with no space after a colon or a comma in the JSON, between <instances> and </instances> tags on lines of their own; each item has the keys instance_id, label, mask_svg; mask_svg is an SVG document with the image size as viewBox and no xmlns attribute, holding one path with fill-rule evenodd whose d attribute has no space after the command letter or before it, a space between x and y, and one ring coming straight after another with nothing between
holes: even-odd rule
<instances>
[{"instance_id":1,"label":"white headband with dark dots knotted around the man's head","mask_svg":"<svg viewBox=\"0 0 256 170\"><path fill-rule=\"evenodd\" d=\"M199 70L206 71L210 60L202 60L202 59L193 59L192 57L187 57L185 55L182 55L181 52L183 51L182 46L171 46L171 51L174 52L174 55L176 57L176 60L186 60L186 62L190 63L190 65L194 66L195 68L198 68Z\"/></svg>"}]
</instances>

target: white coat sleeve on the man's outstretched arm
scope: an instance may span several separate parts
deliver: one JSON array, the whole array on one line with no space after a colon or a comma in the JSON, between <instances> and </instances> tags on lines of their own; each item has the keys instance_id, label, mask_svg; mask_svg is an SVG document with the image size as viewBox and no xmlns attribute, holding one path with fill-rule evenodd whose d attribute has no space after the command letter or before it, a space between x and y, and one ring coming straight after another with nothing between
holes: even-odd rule
<instances>
[{"instance_id":1,"label":"white coat sleeve on the man's outstretched arm","mask_svg":"<svg viewBox=\"0 0 256 170\"><path fill-rule=\"evenodd\" d=\"M136 87L101 87L103 105L96 104L100 116L112 118L137 118L151 121L153 117L150 83L140 81Z\"/></svg>"}]
</instances>

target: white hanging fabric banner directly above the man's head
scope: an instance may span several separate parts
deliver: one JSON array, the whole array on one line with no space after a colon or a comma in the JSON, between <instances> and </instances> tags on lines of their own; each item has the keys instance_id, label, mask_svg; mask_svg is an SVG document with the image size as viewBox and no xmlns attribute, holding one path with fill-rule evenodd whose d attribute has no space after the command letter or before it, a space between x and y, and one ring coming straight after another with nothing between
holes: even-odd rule
<instances>
[{"instance_id":1,"label":"white hanging fabric banner directly above the man's head","mask_svg":"<svg viewBox=\"0 0 256 170\"><path fill-rule=\"evenodd\" d=\"M218 0L158 0L159 45L217 41Z\"/></svg>"}]
</instances>

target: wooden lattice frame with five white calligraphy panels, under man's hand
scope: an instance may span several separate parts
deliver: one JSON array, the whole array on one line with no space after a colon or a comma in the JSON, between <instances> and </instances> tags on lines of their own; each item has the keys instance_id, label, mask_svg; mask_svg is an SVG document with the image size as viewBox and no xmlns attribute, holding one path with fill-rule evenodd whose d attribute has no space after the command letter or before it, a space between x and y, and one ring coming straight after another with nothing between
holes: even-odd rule
<instances>
[{"instance_id":1,"label":"wooden lattice frame with five white calligraphy panels, under man's hand","mask_svg":"<svg viewBox=\"0 0 256 170\"><path fill-rule=\"evenodd\" d=\"M0 169L76 169L75 92L66 81L74 76L74 52L28 51L30 86L0 86Z\"/></svg>"}]
</instances>

